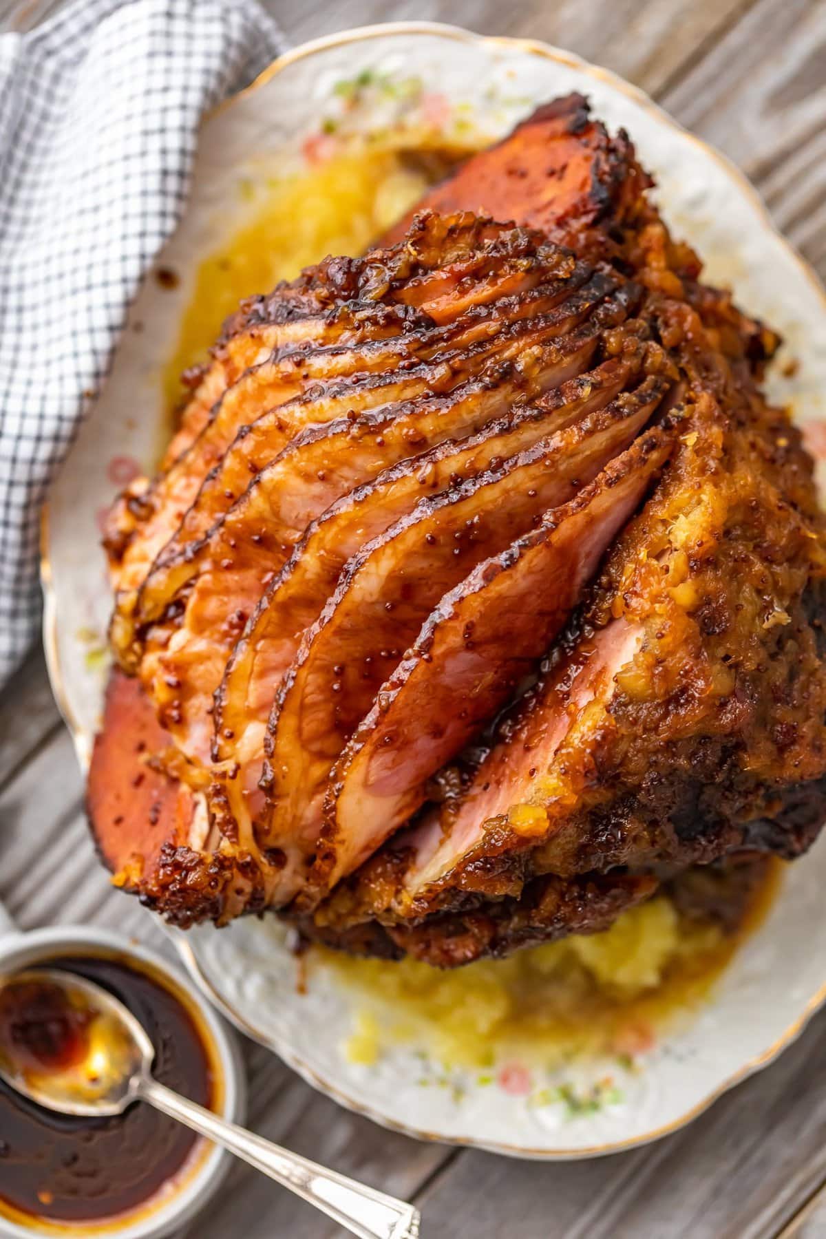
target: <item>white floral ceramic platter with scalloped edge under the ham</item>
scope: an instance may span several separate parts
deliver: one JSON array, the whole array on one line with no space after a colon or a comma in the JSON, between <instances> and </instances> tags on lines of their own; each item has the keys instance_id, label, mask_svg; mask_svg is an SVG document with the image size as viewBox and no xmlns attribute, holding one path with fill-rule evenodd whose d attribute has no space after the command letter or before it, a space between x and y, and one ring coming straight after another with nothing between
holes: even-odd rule
<instances>
[{"instance_id":1,"label":"white floral ceramic platter with scalloped edge under the ham","mask_svg":"<svg viewBox=\"0 0 826 1239\"><path fill-rule=\"evenodd\" d=\"M342 89L354 82L362 84L357 92ZM173 290L146 281L105 389L52 491L43 555L46 648L82 762L99 719L110 608L99 513L136 465L149 468L157 455L166 426L162 366L199 261L243 223L240 187L307 157L326 157L338 140L331 128L369 135L411 125L464 138L472 124L493 138L570 90L588 95L611 129L628 129L656 176L667 222L697 248L707 278L732 285L746 310L783 332L786 349L770 394L791 406L812 451L826 460L826 297L755 192L718 154L619 78L542 45L428 24L370 27L306 45L206 123L189 207L159 259L181 281ZM784 366L790 357L796 368ZM820 467L826 481L826 465ZM515 1156L576 1157L675 1129L798 1035L826 996L825 882L826 839L790 867L768 919L705 1011L646 1054L641 1070L618 1080L606 1104L583 1106L575 1118L552 1100L554 1080L523 1064L502 1064L482 1084L473 1073L446 1077L412 1048L394 1049L372 1067L349 1063L342 1043L350 1031L350 995L320 984L298 994L295 960L275 923L202 928L176 942L230 1018L342 1104L427 1139ZM570 1069L566 1084L587 1094L604 1072L599 1063Z\"/></svg>"}]
</instances>

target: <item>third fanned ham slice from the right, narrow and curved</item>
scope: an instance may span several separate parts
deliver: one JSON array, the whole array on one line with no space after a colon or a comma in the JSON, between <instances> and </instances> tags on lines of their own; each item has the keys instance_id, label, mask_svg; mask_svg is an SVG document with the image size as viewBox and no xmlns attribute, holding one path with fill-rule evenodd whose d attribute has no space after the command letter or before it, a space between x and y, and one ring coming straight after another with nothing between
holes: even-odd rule
<instances>
[{"instance_id":1,"label":"third fanned ham slice from the right, narrow and curved","mask_svg":"<svg viewBox=\"0 0 826 1239\"><path fill-rule=\"evenodd\" d=\"M290 563L267 587L217 695L215 756L224 758L233 772L233 778L220 781L225 793L222 803L235 829L243 834L250 817L261 810L258 783L270 706L303 631L318 618L347 560L411 512L422 494L458 486L488 470L497 458L514 456L540 437L603 408L623 385L623 372L627 383L637 364L639 351L568 383L570 399L559 392L555 399L516 408L464 442L448 441L402 461L342 498L310 527ZM623 405L633 401L638 409L653 411L666 388L666 380L648 379L635 395L623 398ZM224 731L232 735L227 737Z\"/></svg>"}]
</instances>

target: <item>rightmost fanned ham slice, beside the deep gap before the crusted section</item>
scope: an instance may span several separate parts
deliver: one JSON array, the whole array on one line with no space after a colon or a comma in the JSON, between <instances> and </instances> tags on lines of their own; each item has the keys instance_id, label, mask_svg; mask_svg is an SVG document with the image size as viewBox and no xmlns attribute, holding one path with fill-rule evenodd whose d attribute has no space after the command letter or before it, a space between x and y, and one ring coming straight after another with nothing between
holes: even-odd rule
<instances>
[{"instance_id":1,"label":"rightmost fanned ham slice, beside the deep gap before the crusted section","mask_svg":"<svg viewBox=\"0 0 826 1239\"><path fill-rule=\"evenodd\" d=\"M653 410L666 388L651 380L639 404ZM638 439L537 530L442 598L331 776L315 882L329 890L424 804L427 779L546 653L669 450L658 431Z\"/></svg>"}]
</instances>

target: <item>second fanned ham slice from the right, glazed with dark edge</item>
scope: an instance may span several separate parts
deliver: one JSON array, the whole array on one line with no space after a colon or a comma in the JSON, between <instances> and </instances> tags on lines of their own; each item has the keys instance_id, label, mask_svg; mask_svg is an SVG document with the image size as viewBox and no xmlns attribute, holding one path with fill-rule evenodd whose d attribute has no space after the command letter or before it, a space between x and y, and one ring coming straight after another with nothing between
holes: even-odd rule
<instances>
[{"instance_id":1,"label":"second fanned ham slice from the right, glazed with dark edge","mask_svg":"<svg viewBox=\"0 0 826 1239\"><path fill-rule=\"evenodd\" d=\"M649 406L593 414L454 491L420 501L348 563L305 633L270 716L263 786L271 812L259 831L267 849L286 840L312 855L329 771L440 598L596 477L649 415ZM287 875L291 865L285 888Z\"/></svg>"}]
</instances>

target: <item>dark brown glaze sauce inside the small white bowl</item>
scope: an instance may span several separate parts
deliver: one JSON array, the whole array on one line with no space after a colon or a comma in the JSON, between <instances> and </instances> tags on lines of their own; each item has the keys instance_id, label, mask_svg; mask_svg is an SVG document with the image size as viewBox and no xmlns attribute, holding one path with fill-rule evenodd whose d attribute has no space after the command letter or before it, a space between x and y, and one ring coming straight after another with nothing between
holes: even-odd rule
<instances>
[{"instance_id":1,"label":"dark brown glaze sauce inside the small white bowl","mask_svg":"<svg viewBox=\"0 0 826 1239\"><path fill-rule=\"evenodd\" d=\"M107 957L48 963L120 999L155 1046L155 1077L201 1105L214 1105L213 1057L193 1016L160 976ZM140 1101L115 1118L71 1119L25 1100L0 1080L0 1215L17 1224L28 1218L32 1225L43 1219L82 1225L146 1208L187 1170L197 1142L181 1124Z\"/></svg>"}]
</instances>

